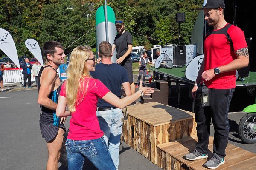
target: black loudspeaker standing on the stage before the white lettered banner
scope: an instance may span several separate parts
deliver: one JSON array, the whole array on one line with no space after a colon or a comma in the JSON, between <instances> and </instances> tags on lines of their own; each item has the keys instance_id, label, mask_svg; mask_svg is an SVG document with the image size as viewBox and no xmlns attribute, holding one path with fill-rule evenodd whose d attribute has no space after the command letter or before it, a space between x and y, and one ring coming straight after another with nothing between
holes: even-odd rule
<instances>
[{"instance_id":1,"label":"black loudspeaker standing on the stage before the white lettered banner","mask_svg":"<svg viewBox=\"0 0 256 170\"><path fill-rule=\"evenodd\" d=\"M173 65L177 67L183 67L186 65L186 46L177 45L173 51Z\"/></svg>"}]
</instances>

